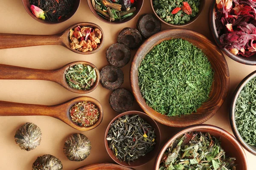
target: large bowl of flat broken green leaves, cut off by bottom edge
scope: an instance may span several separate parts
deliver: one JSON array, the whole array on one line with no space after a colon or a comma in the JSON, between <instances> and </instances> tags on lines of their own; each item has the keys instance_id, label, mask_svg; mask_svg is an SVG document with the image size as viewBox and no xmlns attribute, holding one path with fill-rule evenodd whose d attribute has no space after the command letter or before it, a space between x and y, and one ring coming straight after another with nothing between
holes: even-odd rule
<instances>
[{"instance_id":1,"label":"large bowl of flat broken green leaves, cut off by bottom edge","mask_svg":"<svg viewBox=\"0 0 256 170\"><path fill-rule=\"evenodd\" d=\"M153 170L249 170L245 152L226 130L193 125L179 130L157 155Z\"/></svg>"}]
</instances>

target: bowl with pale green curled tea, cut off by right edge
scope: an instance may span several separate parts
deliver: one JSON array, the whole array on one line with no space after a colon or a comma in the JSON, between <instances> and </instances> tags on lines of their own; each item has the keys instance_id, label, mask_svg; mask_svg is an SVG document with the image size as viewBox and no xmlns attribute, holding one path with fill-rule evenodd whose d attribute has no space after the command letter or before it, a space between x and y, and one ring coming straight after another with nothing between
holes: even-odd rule
<instances>
[{"instance_id":1,"label":"bowl with pale green curled tea, cut off by right edge","mask_svg":"<svg viewBox=\"0 0 256 170\"><path fill-rule=\"evenodd\" d=\"M256 155L256 71L245 77L234 92L230 124L240 144Z\"/></svg>"}]
</instances>

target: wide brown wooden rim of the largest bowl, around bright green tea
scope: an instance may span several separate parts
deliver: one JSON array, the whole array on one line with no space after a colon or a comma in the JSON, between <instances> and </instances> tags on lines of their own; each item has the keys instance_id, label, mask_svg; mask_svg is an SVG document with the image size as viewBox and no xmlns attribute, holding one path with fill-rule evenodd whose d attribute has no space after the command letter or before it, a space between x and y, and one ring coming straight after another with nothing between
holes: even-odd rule
<instances>
[{"instance_id":1,"label":"wide brown wooden rim of the largest bowl, around bright green tea","mask_svg":"<svg viewBox=\"0 0 256 170\"><path fill-rule=\"evenodd\" d=\"M160 37L160 34L169 34L170 32L173 32L173 31L183 31L183 32L186 32L186 33L190 33L190 34L194 34L195 36L199 36L201 37L202 39L206 40L207 42L209 42L209 45L212 46L211 49L215 49L216 51L218 51L220 53L220 55L222 56L222 58L218 58L219 59L219 62L218 63L222 63L223 67L223 73L225 74L226 76L226 79L227 79L227 84L225 85L222 85L222 86L225 86L224 87L224 93L220 98L220 101L219 101L219 107L217 108L217 106L215 106L215 109L216 110L209 110L207 113L208 115L207 116L204 116L203 118L200 118L200 119L197 119L196 121L194 121L193 123L191 122L186 122L187 124L183 123L183 124L177 124L177 123L169 123L169 121L166 121L160 117L160 116L156 116L154 115L152 112L150 107L145 103L145 99L143 98L142 94L137 90L137 89L140 89L138 84L135 83L134 81L134 77L137 76L134 74L134 72L136 73L138 71L138 67L136 66L136 64L134 64L135 62L138 62L136 60L138 60L138 57L141 55L141 51L143 48L145 48L145 44L149 43L149 42L152 42L152 41L156 41L155 38L156 37ZM197 40L195 38L195 40ZM161 41L159 41L158 43L162 42L163 40L161 39ZM208 57L209 58L209 57ZM222 62L220 62L222 61ZM140 105L140 107L143 109L143 111L145 113L147 113L149 116L151 116L155 121L163 124L163 125L166 125L166 126L170 126L170 127L179 127L179 128L183 128L183 127L186 127L186 126L189 126L189 125L195 125L195 124L201 124L201 123L204 123L206 122L208 119L210 119L217 111L218 109L221 107L221 105L223 104L224 100L226 99L227 97L227 92L228 92L228 88L229 88L229 84L230 84L230 77L229 77L229 69L228 69L228 65L227 65L227 61L225 59L225 57L223 56L223 54L221 53L221 51L219 50L219 48L214 45L207 37L205 37L204 35L196 32L196 31L193 31L193 30L190 30L190 29L186 29L186 28L172 28L172 29L166 29L166 30L163 30L163 31L160 31L158 32L157 34L154 34L153 36L149 37L141 46L140 48L137 50L137 53L134 55L134 58L133 58L133 61L131 62L131 67L130 67L130 83L131 83L131 90L132 90L132 93L134 94L134 98L136 99L136 101L138 102L138 104ZM143 100L143 102L141 102ZM204 103L203 103L204 104ZM157 112L157 111L155 111ZM206 113L206 112L205 112ZM160 114L160 113L159 113ZM195 113L194 113L195 114ZM189 115L185 115L185 116L189 116ZM174 116L175 117L175 116Z\"/></svg>"}]
</instances>

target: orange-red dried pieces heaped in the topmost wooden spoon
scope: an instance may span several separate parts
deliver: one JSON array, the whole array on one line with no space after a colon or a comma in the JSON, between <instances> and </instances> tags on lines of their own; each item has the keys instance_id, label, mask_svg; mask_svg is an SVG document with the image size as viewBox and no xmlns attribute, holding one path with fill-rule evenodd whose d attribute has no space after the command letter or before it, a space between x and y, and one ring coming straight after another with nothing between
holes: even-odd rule
<instances>
[{"instance_id":1,"label":"orange-red dried pieces heaped in the topmost wooden spoon","mask_svg":"<svg viewBox=\"0 0 256 170\"><path fill-rule=\"evenodd\" d=\"M101 43L102 32L99 28L77 26L70 29L70 47L81 52L93 51Z\"/></svg>"}]
</instances>

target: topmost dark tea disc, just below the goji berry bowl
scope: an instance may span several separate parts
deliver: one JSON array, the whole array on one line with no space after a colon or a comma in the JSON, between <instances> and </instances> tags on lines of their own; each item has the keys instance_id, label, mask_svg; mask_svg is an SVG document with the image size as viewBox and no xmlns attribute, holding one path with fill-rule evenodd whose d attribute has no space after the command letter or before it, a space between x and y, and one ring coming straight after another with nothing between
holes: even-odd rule
<instances>
[{"instance_id":1,"label":"topmost dark tea disc, just below the goji berry bowl","mask_svg":"<svg viewBox=\"0 0 256 170\"><path fill-rule=\"evenodd\" d=\"M153 14L143 14L137 22L137 29L143 37L148 38L161 31L161 22Z\"/></svg>"}]
</instances>

